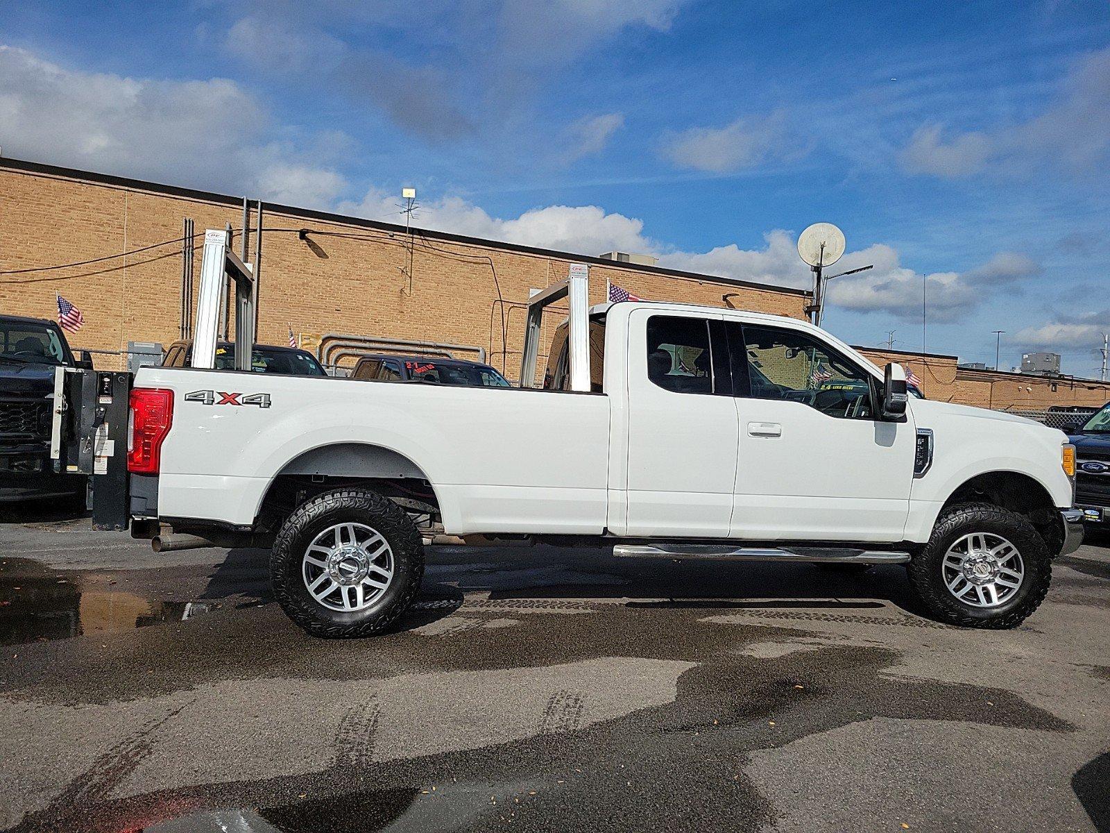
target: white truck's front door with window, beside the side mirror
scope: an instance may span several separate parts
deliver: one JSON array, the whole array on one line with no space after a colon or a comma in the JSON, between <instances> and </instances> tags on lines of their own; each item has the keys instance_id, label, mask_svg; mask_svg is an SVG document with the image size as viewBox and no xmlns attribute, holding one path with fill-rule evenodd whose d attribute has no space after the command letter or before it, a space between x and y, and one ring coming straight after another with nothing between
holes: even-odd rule
<instances>
[{"instance_id":1,"label":"white truck's front door with window, beside the side mirror","mask_svg":"<svg viewBox=\"0 0 1110 833\"><path fill-rule=\"evenodd\" d=\"M899 541L915 425L872 413L870 372L811 331L726 322L737 387L734 538Z\"/></svg>"}]
</instances>

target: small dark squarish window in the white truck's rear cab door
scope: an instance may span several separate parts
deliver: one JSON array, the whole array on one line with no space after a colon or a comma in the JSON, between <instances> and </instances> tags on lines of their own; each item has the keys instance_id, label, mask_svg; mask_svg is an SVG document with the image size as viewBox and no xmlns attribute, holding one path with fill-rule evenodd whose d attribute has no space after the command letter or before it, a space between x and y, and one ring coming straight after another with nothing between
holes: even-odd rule
<instances>
[{"instance_id":1,"label":"small dark squarish window in the white truck's rear cab door","mask_svg":"<svg viewBox=\"0 0 1110 833\"><path fill-rule=\"evenodd\" d=\"M647 320L647 378L675 393L713 393L709 322L652 315Z\"/></svg>"}]
</instances>

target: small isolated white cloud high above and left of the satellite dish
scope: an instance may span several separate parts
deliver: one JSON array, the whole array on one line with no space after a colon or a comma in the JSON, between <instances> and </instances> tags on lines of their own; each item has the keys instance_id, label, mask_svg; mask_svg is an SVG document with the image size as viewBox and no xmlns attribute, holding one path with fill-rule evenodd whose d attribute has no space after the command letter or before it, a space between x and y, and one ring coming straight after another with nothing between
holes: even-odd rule
<instances>
[{"instance_id":1,"label":"small isolated white cloud high above and left of the satellite dish","mask_svg":"<svg viewBox=\"0 0 1110 833\"><path fill-rule=\"evenodd\" d=\"M710 173L733 173L805 153L806 148L791 137L783 111L740 117L723 128L690 128L664 145L664 154L679 168Z\"/></svg>"}]
</instances>

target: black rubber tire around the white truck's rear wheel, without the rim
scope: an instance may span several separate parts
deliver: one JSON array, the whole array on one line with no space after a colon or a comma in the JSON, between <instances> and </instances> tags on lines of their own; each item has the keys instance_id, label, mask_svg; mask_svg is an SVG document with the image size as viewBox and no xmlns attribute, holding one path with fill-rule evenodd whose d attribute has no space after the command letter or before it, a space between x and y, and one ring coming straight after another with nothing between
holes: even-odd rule
<instances>
[{"instance_id":1,"label":"black rubber tire around the white truck's rear wheel, without the rim","mask_svg":"<svg viewBox=\"0 0 1110 833\"><path fill-rule=\"evenodd\" d=\"M393 579L370 608L340 612L319 603L302 579L309 544L335 523L376 530L393 552ZM270 581L289 618L314 636L350 639L381 633L405 612L424 578L424 546L415 524L393 501L367 489L336 489L302 503L282 524L270 555Z\"/></svg>"}]
</instances>

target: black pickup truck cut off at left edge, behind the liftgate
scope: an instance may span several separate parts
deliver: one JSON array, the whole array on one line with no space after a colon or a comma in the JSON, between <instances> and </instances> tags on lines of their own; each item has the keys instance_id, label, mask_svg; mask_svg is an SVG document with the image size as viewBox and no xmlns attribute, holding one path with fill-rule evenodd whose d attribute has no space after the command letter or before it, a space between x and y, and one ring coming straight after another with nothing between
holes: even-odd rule
<instances>
[{"instance_id":1,"label":"black pickup truck cut off at left edge, behind the liftgate","mask_svg":"<svg viewBox=\"0 0 1110 833\"><path fill-rule=\"evenodd\" d=\"M85 493L87 478L56 473L50 459L54 368L79 361L53 321L0 315L0 503Z\"/></svg>"}]
</instances>

